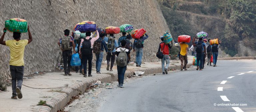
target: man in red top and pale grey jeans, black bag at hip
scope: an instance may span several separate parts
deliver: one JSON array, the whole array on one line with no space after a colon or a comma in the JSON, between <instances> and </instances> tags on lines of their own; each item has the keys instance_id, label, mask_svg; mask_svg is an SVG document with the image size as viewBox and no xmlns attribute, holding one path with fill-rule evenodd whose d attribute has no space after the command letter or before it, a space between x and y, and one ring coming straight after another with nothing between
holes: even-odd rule
<instances>
[{"instance_id":1,"label":"man in red top and pale grey jeans, black bag at hip","mask_svg":"<svg viewBox=\"0 0 256 112\"><path fill-rule=\"evenodd\" d=\"M164 36L161 36L160 39L162 42L159 44L158 52L162 51L164 55L164 57L162 58L162 72L163 74L168 74L167 71L170 64L169 49L172 48L172 43L171 45L170 44L166 45L164 43ZM165 63L166 63L166 66L164 67Z\"/></svg>"}]
</instances>

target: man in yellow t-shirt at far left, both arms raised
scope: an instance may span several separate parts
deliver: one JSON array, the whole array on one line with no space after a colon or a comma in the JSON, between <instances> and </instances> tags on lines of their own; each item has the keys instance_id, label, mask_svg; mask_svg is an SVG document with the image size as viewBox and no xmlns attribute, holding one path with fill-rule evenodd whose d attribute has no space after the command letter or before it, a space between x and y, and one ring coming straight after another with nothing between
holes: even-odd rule
<instances>
[{"instance_id":1,"label":"man in yellow t-shirt at far left, both arms raised","mask_svg":"<svg viewBox=\"0 0 256 112\"><path fill-rule=\"evenodd\" d=\"M4 28L4 33L0 39L0 44L8 46L10 48L10 72L12 77L12 97L11 99L22 98L21 85L23 81L24 74L24 50L25 46L32 42L32 35L28 26L28 40L20 40L20 33L13 32L14 40L4 41L4 36L6 34L6 29Z\"/></svg>"}]
</instances>

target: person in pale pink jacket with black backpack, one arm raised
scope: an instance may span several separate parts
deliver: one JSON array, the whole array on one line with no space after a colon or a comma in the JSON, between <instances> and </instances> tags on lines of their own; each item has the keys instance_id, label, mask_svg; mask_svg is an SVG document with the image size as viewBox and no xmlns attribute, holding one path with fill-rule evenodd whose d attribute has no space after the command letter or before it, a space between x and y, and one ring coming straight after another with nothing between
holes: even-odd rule
<instances>
[{"instance_id":1,"label":"person in pale pink jacket with black backpack, one arm raised","mask_svg":"<svg viewBox=\"0 0 256 112\"><path fill-rule=\"evenodd\" d=\"M80 51L79 55L81 59L83 59L83 65L84 65L84 71L82 71L82 74L84 77L87 77L87 61L88 61L88 76L92 76L92 48L93 44L96 40L99 39L99 32L96 30L97 36L94 38L91 38L91 32L86 32L86 38L81 40L80 43Z\"/></svg>"}]
</instances>

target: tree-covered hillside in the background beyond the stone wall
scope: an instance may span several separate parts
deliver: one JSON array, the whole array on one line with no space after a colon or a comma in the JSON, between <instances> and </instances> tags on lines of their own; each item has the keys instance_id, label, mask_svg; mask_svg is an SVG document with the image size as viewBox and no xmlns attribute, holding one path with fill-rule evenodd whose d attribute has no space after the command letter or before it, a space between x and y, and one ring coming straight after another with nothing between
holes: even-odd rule
<instances>
[{"instance_id":1,"label":"tree-covered hillside in the background beyond the stone wall","mask_svg":"<svg viewBox=\"0 0 256 112\"><path fill-rule=\"evenodd\" d=\"M255 0L158 0L162 13L174 38L179 35L195 36L200 31L210 39L222 40L221 49L231 56L244 56L240 42L256 50ZM238 56L236 55L236 56Z\"/></svg>"}]
</instances>

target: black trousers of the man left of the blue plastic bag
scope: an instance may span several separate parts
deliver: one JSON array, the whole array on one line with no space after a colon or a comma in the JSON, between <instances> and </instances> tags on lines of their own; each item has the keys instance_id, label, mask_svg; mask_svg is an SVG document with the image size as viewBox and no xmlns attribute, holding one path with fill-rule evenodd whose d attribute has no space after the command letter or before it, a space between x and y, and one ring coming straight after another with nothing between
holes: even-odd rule
<instances>
[{"instance_id":1,"label":"black trousers of the man left of the blue plastic bag","mask_svg":"<svg viewBox=\"0 0 256 112\"><path fill-rule=\"evenodd\" d=\"M70 61L71 61L71 56L72 56L72 51L71 50L66 50L62 52L63 56L63 63L64 63L64 72L65 73L70 73Z\"/></svg>"}]
</instances>

